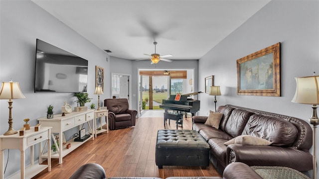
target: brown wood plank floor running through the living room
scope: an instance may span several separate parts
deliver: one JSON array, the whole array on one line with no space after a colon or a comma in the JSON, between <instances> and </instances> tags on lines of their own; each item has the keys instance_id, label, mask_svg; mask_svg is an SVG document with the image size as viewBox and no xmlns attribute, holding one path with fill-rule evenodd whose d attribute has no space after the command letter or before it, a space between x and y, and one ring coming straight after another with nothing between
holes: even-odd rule
<instances>
[{"instance_id":1,"label":"brown wood plank floor running through the living room","mask_svg":"<svg viewBox=\"0 0 319 179\"><path fill-rule=\"evenodd\" d=\"M103 119L105 120L105 119ZM105 128L105 127L104 127ZM83 164L100 164L109 177L208 177L220 176L212 164L200 167L155 164L155 146L159 129L176 129L175 121L164 127L163 110L149 110L136 120L136 126L111 130L89 140L63 158L51 160L51 172L42 171L33 179L68 179ZM180 125L178 129L182 129ZM191 118L183 120L183 129L191 129ZM71 146L72 147L72 146Z\"/></svg>"}]
</instances>

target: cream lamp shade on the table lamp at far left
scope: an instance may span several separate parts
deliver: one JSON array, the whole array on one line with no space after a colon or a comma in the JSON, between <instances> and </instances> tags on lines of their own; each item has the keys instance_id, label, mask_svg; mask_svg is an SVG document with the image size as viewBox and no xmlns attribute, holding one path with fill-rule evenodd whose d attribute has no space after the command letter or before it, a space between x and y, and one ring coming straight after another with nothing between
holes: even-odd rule
<instances>
[{"instance_id":1,"label":"cream lamp shade on the table lamp at far left","mask_svg":"<svg viewBox=\"0 0 319 179\"><path fill-rule=\"evenodd\" d=\"M25 98L22 94L18 82L2 82L2 87L0 90L0 99L20 99Z\"/></svg>"}]
</instances>

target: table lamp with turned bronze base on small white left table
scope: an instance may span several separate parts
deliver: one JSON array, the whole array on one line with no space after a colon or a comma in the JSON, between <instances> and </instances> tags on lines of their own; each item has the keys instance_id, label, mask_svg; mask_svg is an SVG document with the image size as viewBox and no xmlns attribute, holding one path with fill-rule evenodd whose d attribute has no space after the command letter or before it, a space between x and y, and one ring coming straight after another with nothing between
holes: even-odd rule
<instances>
[{"instance_id":1,"label":"table lamp with turned bronze base on small white left table","mask_svg":"<svg viewBox=\"0 0 319 179\"><path fill-rule=\"evenodd\" d=\"M22 94L21 89L19 87L18 82L2 82L2 87L0 90L0 99L9 99L9 129L3 134L3 135L12 135L18 133L17 131L13 130L13 119L12 119L12 99L20 99L25 98L25 96Z\"/></svg>"}]
</instances>

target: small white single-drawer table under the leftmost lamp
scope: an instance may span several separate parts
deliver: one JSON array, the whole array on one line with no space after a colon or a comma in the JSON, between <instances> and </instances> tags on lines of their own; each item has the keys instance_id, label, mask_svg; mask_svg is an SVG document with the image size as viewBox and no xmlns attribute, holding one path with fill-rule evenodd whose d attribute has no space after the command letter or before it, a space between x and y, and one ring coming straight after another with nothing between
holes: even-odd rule
<instances>
[{"instance_id":1,"label":"small white single-drawer table under the leftmost lamp","mask_svg":"<svg viewBox=\"0 0 319 179\"><path fill-rule=\"evenodd\" d=\"M0 136L0 179L4 179L4 159L3 159L3 150L4 149L18 149L21 152L20 156L20 172L16 175L10 177L11 179L31 179L36 176L38 173L48 168L48 172L51 171L51 158L50 158L50 133L51 127L40 127L39 131L34 131L34 127L31 127L29 130L24 132L23 136L19 136L19 132L13 135L1 135ZM46 142L42 150L42 142ZM49 151L47 154L47 165L34 164L34 149L35 144L40 143L39 150L39 163L42 163L42 158L40 157L47 146ZM30 166L25 168L25 150L30 147ZM42 150L42 151L41 151Z\"/></svg>"}]
</instances>

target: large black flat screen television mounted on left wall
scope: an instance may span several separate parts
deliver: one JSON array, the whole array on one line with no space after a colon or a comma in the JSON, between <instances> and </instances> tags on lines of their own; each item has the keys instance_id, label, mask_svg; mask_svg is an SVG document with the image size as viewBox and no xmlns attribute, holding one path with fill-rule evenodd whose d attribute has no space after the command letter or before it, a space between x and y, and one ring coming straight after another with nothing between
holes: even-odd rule
<instances>
[{"instance_id":1,"label":"large black flat screen television mounted on left wall","mask_svg":"<svg viewBox=\"0 0 319 179\"><path fill-rule=\"evenodd\" d=\"M34 92L86 92L88 61L36 39Z\"/></svg>"}]
</instances>

